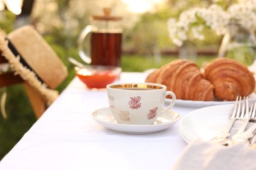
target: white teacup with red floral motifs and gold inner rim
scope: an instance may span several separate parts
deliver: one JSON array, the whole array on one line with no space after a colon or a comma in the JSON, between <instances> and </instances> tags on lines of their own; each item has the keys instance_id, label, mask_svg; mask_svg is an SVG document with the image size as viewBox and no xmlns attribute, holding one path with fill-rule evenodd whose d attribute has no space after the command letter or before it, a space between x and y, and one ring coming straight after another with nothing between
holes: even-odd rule
<instances>
[{"instance_id":1,"label":"white teacup with red floral motifs and gold inner rim","mask_svg":"<svg viewBox=\"0 0 256 170\"><path fill-rule=\"evenodd\" d=\"M176 101L175 93L155 83L108 84L107 93L110 110L119 124L153 124ZM172 101L163 109L167 95Z\"/></svg>"}]
</instances>

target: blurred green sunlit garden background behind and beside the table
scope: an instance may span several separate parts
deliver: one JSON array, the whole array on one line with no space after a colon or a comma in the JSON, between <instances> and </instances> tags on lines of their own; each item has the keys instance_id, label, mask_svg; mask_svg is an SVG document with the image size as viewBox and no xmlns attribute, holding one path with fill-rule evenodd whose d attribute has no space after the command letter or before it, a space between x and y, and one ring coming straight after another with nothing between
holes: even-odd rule
<instances>
[{"instance_id":1,"label":"blurred green sunlit garden background behind and beside the table","mask_svg":"<svg viewBox=\"0 0 256 170\"><path fill-rule=\"evenodd\" d=\"M122 70L145 71L181 57L181 47L169 38L169 18L177 18L185 9L208 7L212 3L225 6L232 1L0 0L0 28L8 34L22 25L35 26L68 67L68 78L58 87L61 93L75 76L68 57L83 62L77 50L79 32L90 24L91 15L102 15L102 8L111 7L113 16L123 17ZM196 49L193 59L199 66L217 56L222 39L207 29L205 33L203 41L193 41ZM0 89L0 96L4 90L8 94L7 118L0 114L0 160L36 121L22 84Z\"/></svg>"}]
</instances>

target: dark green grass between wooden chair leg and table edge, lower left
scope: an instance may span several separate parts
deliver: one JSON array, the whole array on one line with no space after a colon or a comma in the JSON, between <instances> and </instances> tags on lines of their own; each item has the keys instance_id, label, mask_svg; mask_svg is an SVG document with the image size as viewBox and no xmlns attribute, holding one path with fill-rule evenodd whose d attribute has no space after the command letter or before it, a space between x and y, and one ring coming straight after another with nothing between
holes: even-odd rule
<instances>
[{"instance_id":1,"label":"dark green grass between wooden chair leg and table edge, lower left","mask_svg":"<svg viewBox=\"0 0 256 170\"><path fill-rule=\"evenodd\" d=\"M6 102L8 117L0 116L0 160L36 120L22 84L7 88Z\"/></svg>"}]
</instances>

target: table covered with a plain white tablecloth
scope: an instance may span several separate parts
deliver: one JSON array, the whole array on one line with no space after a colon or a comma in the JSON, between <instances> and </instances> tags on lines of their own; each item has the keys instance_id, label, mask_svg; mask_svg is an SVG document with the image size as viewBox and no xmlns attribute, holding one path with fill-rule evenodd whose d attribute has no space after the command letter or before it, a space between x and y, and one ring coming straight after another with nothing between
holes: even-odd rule
<instances>
[{"instance_id":1,"label":"table covered with a plain white tablecloth","mask_svg":"<svg viewBox=\"0 0 256 170\"><path fill-rule=\"evenodd\" d=\"M122 73L117 81L145 78L145 73ZM106 90L87 90L75 77L0 161L0 169L172 169L186 146L179 122L158 133L117 133L91 118L102 107L108 107ZM173 110L184 116L194 108Z\"/></svg>"}]
</instances>

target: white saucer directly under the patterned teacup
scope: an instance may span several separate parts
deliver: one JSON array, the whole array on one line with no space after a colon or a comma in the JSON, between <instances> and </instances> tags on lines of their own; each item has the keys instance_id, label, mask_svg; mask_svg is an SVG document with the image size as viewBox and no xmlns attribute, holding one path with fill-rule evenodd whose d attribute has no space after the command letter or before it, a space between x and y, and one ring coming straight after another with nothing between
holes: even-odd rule
<instances>
[{"instance_id":1,"label":"white saucer directly under the patterned teacup","mask_svg":"<svg viewBox=\"0 0 256 170\"><path fill-rule=\"evenodd\" d=\"M158 117L156 122L154 122L152 125L117 124L108 107L95 110L92 112L91 116L98 124L108 129L117 131L119 133L129 134L147 134L161 131L173 126L173 124L175 124L175 122L181 118L177 112L171 110Z\"/></svg>"}]
</instances>

